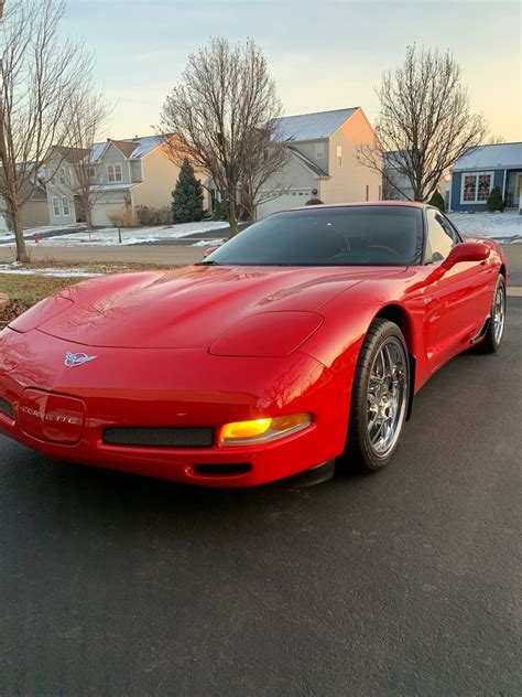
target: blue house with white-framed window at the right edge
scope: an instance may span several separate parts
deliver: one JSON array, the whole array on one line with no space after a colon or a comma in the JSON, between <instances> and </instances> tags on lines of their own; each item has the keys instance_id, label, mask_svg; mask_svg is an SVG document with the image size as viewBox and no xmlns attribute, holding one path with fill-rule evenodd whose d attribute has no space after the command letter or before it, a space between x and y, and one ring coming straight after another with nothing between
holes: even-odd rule
<instances>
[{"instance_id":1,"label":"blue house with white-framed window at the right edge","mask_svg":"<svg viewBox=\"0 0 522 697\"><path fill-rule=\"evenodd\" d=\"M452 168L450 210L486 211L493 186L508 208L521 210L522 142L480 146L457 160Z\"/></svg>"}]
</instances>

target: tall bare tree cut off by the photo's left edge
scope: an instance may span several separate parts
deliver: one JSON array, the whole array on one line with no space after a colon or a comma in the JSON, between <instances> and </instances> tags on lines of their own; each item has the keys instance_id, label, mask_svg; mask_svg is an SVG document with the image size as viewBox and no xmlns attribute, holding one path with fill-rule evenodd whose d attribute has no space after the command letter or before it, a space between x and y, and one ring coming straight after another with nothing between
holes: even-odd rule
<instances>
[{"instance_id":1,"label":"tall bare tree cut off by the photo's left edge","mask_svg":"<svg viewBox=\"0 0 522 697\"><path fill-rule=\"evenodd\" d=\"M58 39L65 0L12 0L0 31L0 194L29 261L21 208L37 185L52 144L67 136L67 106L91 72L81 42Z\"/></svg>"}]
</instances>

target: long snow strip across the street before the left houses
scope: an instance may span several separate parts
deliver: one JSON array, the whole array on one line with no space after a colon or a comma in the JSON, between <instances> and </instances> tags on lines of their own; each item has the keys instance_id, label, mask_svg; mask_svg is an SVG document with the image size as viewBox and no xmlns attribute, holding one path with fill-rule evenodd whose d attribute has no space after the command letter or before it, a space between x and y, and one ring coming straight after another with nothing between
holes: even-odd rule
<instances>
[{"instance_id":1,"label":"long snow strip across the street before the left houses","mask_svg":"<svg viewBox=\"0 0 522 697\"><path fill-rule=\"evenodd\" d=\"M183 223L162 227L139 227L132 230L121 229L121 245L141 245L146 242L161 242L162 239L180 239L187 235L197 235L228 227L228 223L221 221L205 221L202 223ZM40 228L43 229L43 228ZM0 235L0 247L9 243ZM28 239L29 246L35 246L33 239ZM91 233L91 239L85 230L69 235L45 237L40 240L39 247L112 247L118 246L118 229L116 227L97 229Z\"/></svg>"}]
</instances>

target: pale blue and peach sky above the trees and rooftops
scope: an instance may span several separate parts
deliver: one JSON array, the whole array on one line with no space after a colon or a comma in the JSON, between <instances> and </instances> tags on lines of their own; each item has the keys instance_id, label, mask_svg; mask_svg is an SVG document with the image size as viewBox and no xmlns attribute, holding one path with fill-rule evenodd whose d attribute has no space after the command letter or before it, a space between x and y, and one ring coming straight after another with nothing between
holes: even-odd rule
<instances>
[{"instance_id":1,"label":"pale blue and peach sky above the trees and rooftops","mask_svg":"<svg viewBox=\"0 0 522 697\"><path fill-rule=\"evenodd\" d=\"M113 105L105 137L153 132L187 56L210 36L253 39L286 115L360 106L409 44L449 49L491 135L522 140L522 2L501 0L68 0L62 32L96 55Z\"/></svg>"}]
</instances>

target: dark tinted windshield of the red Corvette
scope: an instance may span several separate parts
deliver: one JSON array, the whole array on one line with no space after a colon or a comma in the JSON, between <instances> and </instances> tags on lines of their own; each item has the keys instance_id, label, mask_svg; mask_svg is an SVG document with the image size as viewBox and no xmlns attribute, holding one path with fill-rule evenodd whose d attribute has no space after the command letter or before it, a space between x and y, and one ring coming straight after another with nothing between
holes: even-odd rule
<instances>
[{"instance_id":1,"label":"dark tinted windshield of the red Corvette","mask_svg":"<svg viewBox=\"0 0 522 697\"><path fill-rule=\"evenodd\" d=\"M254 223L204 264L410 266L420 264L422 210L346 206L285 211Z\"/></svg>"}]
</instances>

